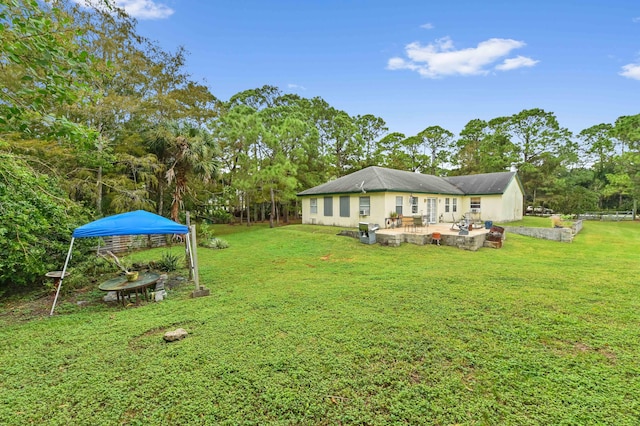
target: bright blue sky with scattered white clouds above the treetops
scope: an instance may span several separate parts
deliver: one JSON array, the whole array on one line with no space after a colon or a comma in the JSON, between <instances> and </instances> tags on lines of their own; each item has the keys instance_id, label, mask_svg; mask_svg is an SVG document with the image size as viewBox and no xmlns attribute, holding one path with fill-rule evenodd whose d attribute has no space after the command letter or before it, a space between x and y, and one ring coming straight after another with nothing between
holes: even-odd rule
<instances>
[{"instance_id":1,"label":"bright blue sky with scattered white clouds above the treetops","mask_svg":"<svg viewBox=\"0 0 640 426\"><path fill-rule=\"evenodd\" d=\"M523 109L574 133L640 113L640 1L118 0L222 100L265 84L389 131Z\"/></svg>"}]
</instances>

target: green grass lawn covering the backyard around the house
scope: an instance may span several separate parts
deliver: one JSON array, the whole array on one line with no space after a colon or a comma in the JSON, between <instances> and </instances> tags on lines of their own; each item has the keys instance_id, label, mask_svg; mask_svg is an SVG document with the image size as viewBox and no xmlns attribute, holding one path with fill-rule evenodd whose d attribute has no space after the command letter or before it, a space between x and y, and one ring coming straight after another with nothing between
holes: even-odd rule
<instances>
[{"instance_id":1,"label":"green grass lawn covering the backyard around the house","mask_svg":"<svg viewBox=\"0 0 640 426\"><path fill-rule=\"evenodd\" d=\"M638 423L640 224L477 252L336 233L216 227L209 297L122 308L96 284L52 318L12 305L0 424Z\"/></svg>"}]
</instances>

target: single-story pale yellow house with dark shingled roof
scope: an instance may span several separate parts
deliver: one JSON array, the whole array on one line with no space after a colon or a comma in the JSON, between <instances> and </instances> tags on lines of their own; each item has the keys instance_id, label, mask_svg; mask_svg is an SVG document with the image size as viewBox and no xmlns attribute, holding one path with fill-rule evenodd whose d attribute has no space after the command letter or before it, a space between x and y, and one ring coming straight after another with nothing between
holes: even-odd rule
<instances>
[{"instance_id":1,"label":"single-story pale yellow house with dark shingled roof","mask_svg":"<svg viewBox=\"0 0 640 426\"><path fill-rule=\"evenodd\" d=\"M298 193L302 223L389 227L392 212L420 215L428 223L522 219L524 190L516 172L438 177L367 167Z\"/></svg>"}]
</instances>

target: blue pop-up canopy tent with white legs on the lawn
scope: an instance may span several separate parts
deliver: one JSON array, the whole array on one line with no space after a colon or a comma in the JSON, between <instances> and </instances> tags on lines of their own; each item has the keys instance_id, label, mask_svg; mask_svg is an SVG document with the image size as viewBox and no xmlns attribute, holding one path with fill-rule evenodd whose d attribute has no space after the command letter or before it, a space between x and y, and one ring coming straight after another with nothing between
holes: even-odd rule
<instances>
[{"instance_id":1,"label":"blue pop-up canopy tent with white legs on the lawn","mask_svg":"<svg viewBox=\"0 0 640 426\"><path fill-rule=\"evenodd\" d=\"M69 259L71 258L73 242L76 238L149 234L186 234L187 247L191 247L189 239L189 227L144 210L136 210L133 212L104 217L102 219L98 219L94 222L90 222L86 225L76 228L71 235L69 252L67 253L67 258L64 262L64 267L62 268L62 274L58 284L58 289L56 290L56 296L53 299L53 306L51 306L51 313L49 315L53 315L53 310L56 307L58 295L60 294L60 288L62 287L62 280L64 279L65 273L67 271L67 265L69 264ZM193 271L194 266L193 258L191 256L191 250L189 249L188 251L190 255L189 259L191 262L191 268Z\"/></svg>"}]
</instances>

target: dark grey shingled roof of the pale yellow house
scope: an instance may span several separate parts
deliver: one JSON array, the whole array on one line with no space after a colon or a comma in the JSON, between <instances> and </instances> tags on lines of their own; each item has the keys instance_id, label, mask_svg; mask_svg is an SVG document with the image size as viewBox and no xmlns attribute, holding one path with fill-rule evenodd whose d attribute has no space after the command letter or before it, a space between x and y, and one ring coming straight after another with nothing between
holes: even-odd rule
<instances>
[{"instance_id":1,"label":"dark grey shingled roof of the pale yellow house","mask_svg":"<svg viewBox=\"0 0 640 426\"><path fill-rule=\"evenodd\" d=\"M372 166L309 188L298 195L350 194L362 190L450 195L501 194L514 175L514 172L506 172L441 178Z\"/></svg>"}]
</instances>

